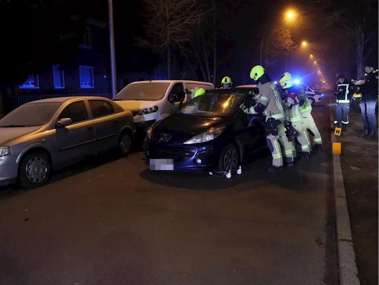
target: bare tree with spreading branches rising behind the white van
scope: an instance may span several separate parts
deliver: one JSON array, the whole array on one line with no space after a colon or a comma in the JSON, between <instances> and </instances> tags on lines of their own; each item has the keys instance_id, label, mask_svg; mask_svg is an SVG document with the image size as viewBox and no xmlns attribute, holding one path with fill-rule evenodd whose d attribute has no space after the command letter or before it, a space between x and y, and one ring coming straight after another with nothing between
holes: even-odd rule
<instances>
[{"instance_id":1,"label":"bare tree with spreading branches rising behind the white van","mask_svg":"<svg viewBox=\"0 0 379 285\"><path fill-rule=\"evenodd\" d=\"M182 47L194 37L194 31L207 11L200 0L143 0L145 37L137 44L165 53L167 77L171 79L171 56L174 47Z\"/></svg>"}]
</instances>

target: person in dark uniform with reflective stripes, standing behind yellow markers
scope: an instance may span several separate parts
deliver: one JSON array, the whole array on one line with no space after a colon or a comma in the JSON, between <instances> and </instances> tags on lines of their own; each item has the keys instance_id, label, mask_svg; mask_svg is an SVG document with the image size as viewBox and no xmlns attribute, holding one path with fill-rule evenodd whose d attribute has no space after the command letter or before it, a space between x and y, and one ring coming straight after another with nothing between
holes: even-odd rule
<instances>
[{"instance_id":1,"label":"person in dark uniform with reflective stripes, standing behind yellow markers","mask_svg":"<svg viewBox=\"0 0 379 285\"><path fill-rule=\"evenodd\" d=\"M349 124L350 100L353 93L354 86L342 74L338 76L338 83L334 91L334 95L337 97L335 100L337 105L335 107L333 131L336 127L339 128L340 122L342 122L342 131L346 132Z\"/></svg>"}]
</instances>

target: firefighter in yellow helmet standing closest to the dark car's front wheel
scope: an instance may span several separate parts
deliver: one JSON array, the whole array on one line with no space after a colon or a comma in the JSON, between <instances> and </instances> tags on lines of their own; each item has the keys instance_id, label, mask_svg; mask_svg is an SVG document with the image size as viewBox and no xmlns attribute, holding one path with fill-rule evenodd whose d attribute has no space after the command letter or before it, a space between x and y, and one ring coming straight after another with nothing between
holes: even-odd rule
<instances>
[{"instance_id":1,"label":"firefighter in yellow helmet standing closest to the dark car's front wheel","mask_svg":"<svg viewBox=\"0 0 379 285\"><path fill-rule=\"evenodd\" d=\"M273 165L268 168L269 172L277 172L282 169L283 157L280 143L282 144L287 160L287 165L293 165L292 145L285 134L283 122L285 112L280 100L279 91L271 81L266 70L260 66L254 66L250 72L250 78L257 82L259 96L253 106L249 106L247 113L266 116L267 145L273 156ZM279 141L278 141L279 140Z\"/></svg>"}]
</instances>

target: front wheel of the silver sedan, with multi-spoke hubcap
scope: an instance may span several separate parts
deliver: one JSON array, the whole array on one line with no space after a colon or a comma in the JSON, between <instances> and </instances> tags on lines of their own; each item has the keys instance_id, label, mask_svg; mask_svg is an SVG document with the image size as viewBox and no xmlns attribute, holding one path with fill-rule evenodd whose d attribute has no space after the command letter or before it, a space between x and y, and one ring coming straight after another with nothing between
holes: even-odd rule
<instances>
[{"instance_id":1,"label":"front wheel of the silver sedan, with multi-spoke hubcap","mask_svg":"<svg viewBox=\"0 0 379 285\"><path fill-rule=\"evenodd\" d=\"M29 153L20 163L19 183L29 189L40 187L49 180L50 170L50 160L46 153Z\"/></svg>"}]
</instances>

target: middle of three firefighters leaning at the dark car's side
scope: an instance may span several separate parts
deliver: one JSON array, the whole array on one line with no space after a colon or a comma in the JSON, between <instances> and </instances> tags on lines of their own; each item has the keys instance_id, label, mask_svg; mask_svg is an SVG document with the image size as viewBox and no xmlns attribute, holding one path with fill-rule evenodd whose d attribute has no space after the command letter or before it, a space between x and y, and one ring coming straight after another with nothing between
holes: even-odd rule
<instances>
[{"instance_id":1,"label":"middle of three firefighters leaning at the dark car's side","mask_svg":"<svg viewBox=\"0 0 379 285\"><path fill-rule=\"evenodd\" d=\"M289 77L288 75L284 75L284 77L280 78L279 84L284 90L282 99L284 100L283 108L284 110L287 110L288 122L285 122L285 125L287 125L287 131L294 128L292 131L295 133L292 134L291 137L293 139L295 137L297 138L301 146L302 157L309 159L310 147L304 135L307 133L307 129L304 129L304 123L302 122L303 118L300 113L300 98L297 93L297 88L293 84L292 77ZM298 132L297 134L296 131ZM296 149L293 140L291 140L291 143L294 157L296 157Z\"/></svg>"}]
</instances>

